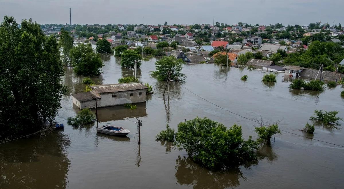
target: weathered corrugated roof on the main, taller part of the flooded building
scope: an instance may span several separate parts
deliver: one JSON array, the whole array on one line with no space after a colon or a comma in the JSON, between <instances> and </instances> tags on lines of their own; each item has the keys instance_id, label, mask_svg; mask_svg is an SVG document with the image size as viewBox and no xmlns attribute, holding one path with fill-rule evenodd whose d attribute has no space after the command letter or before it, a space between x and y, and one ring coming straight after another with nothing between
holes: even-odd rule
<instances>
[{"instance_id":1,"label":"weathered corrugated roof on the main, taller part of the flooded building","mask_svg":"<svg viewBox=\"0 0 344 189\"><path fill-rule=\"evenodd\" d=\"M148 89L146 86L144 86L141 83L133 83L133 82L123 83L123 84L94 85L94 86L90 86L90 88L95 89L99 93Z\"/></svg>"}]
</instances>

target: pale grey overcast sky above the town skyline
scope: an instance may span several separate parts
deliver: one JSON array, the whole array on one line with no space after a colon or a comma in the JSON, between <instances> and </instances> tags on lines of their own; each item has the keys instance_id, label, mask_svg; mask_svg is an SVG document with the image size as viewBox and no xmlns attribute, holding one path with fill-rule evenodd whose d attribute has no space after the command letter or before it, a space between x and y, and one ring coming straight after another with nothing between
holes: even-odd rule
<instances>
[{"instance_id":1,"label":"pale grey overcast sky above the town skyline","mask_svg":"<svg viewBox=\"0 0 344 189\"><path fill-rule=\"evenodd\" d=\"M41 24L235 24L308 25L343 23L343 0L0 0L1 21L11 15L20 22Z\"/></svg>"}]
</instances>

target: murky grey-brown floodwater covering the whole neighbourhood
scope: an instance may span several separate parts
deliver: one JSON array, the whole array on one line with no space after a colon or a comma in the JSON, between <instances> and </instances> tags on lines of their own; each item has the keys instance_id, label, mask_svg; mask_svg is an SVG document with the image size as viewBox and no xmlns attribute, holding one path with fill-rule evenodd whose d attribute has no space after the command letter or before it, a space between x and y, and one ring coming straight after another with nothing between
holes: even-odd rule
<instances>
[{"instance_id":1,"label":"murky grey-brown floodwater covering the whole neighbourhood","mask_svg":"<svg viewBox=\"0 0 344 189\"><path fill-rule=\"evenodd\" d=\"M132 70L120 68L115 57L102 57L104 73L93 77L96 84L116 83ZM65 95L56 122L64 130L45 136L22 138L0 145L0 188L343 188L344 148L316 140L344 145L342 126L317 125L314 134L300 131L314 110L340 111L344 118L341 86L325 92L289 89L278 74L274 85L263 84L259 70L221 68L213 64L184 65L184 82L171 82L170 98L163 98L164 82L149 76L153 58L143 62L138 77L154 86L154 94L136 110L122 106L99 108L99 123L122 126L128 137L97 134L95 125L72 127L65 120L78 109L72 96ZM248 75L247 81L240 77ZM82 78L66 68L63 82L70 93L82 92ZM170 143L155 141L156 134L169 124L196 116L221 122L227 127L242 126L243 136L257 138L255 123L249 119L281 121L283 132L271 146L258 150L259 159L226 172L209 171L195 164L185 151ZM141 145L137 144L137 119ZM343 122L340 122L343 124ZM307 136L310 138L305 138Z\"/></svg>"}]
</instances>

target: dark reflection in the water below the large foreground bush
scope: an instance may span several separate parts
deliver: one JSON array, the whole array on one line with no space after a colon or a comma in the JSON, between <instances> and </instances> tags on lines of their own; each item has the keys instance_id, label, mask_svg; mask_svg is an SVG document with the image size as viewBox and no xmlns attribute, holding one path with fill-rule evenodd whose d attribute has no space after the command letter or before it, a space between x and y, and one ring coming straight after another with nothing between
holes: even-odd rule
<instances>
[{"instance_id":1,"label":"dark reflection in the water below the large foreground bush","mask_svg":"<svg viewBox=\"0 0 344 189\"><path fill-rule=\"evenodd\" d=\"M193 188L229 188L240 184L243 178L240 169L233 168L226 172L213 172L194 163L192 158L179 156L176 159L175 178L180 185L193 185Z\"/></svg>"}]
</instances>

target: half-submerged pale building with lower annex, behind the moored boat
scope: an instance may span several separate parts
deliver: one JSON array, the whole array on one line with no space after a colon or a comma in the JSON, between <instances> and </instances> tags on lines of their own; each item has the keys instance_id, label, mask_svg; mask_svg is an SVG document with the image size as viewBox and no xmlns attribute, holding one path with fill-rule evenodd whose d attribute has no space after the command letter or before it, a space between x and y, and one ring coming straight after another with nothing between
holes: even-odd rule
<instances>
[{"instance_id":1,"label":"half-submerged pale building with lower annex, behind the moored boat","mask_svg":"<svg viewBox=\"0 0 344 189\"><path fill-rule=\"evenodd\" d=\"M72 94L73 103L79 108L94 108L95 99L98 107L121 105L126 103L146 102L147 87L141 83L122 83L89 86L92 90Z\"/></svg>"}]
</instances>

